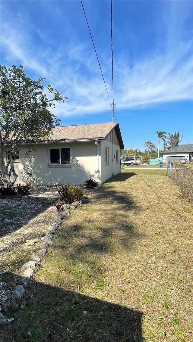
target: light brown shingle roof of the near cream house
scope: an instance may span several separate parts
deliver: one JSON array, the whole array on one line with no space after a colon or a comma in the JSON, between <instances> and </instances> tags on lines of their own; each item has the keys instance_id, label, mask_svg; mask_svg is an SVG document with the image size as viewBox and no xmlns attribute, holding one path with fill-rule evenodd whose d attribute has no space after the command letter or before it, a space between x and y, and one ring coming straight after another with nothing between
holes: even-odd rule
<instances>
[{"instance_id":1,"label":"light brown shingle roof of the near cream house","mask_svg":"<svg viewBox=\"0 0 193 342\"><path fill-rule=\"evenodd\" d=\"M75 126L59 126L52 129L51 140L89 140L105 139L117 122L85 124Z\"/></svg>"}]
</instances>

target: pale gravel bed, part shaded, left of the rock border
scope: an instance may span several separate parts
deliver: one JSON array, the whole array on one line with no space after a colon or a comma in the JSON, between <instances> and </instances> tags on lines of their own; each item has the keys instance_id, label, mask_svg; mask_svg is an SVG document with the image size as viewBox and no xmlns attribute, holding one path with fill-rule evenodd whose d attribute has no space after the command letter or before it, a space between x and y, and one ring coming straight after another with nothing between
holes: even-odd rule
<instances>
[{"instance_id":1,"label":"pale gravel bed, part shaded, left of the rock border","mask_svg":"<svg viewBox=\"0 0 193 342\"><path fill-rule=\"evenodd\" d=\"M19 247L26 250L35 245L35 241L29 240L38 238L53 220L56 199L57 189L51 186L34 186L28 196L1 199L1 269L8 270Z\"/></svg>"}]
</instances>

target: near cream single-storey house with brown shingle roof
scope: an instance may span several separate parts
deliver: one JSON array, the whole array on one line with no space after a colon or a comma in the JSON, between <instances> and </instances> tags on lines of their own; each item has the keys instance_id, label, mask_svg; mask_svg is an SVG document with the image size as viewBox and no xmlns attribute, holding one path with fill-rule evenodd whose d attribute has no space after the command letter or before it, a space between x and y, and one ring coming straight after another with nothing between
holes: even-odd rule
<instances>
[{"instance_id":1,"label":"near cream single-storey house with brown shingle roof","mask_svg":"<svg viewBox=\"0 0 193 342\"><path fill-rule=\"evenodd\" d=\"M120 173L124 145L118 122L60 126L52 133L27 157L26 145L18 151L15 184L84 184L90 177L103 183Z\"/></svg>"}]
</instances>

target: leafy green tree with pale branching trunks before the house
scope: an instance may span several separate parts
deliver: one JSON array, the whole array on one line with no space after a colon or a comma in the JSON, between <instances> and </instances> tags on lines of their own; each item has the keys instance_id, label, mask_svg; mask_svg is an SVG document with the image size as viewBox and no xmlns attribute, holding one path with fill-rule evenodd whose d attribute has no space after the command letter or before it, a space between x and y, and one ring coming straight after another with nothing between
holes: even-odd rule
<instances>
[{"instance_id":1,"label":"leafy green tree with pale branching trunks before the house","mask_svg":"<svg viewBox=\"0 0 193 342\"><path fill-rule=\"evenodd\" d=\"M14 161L21 145L37 144L60 124L51 109L55 108L53 102L64 102L67 97L63 97L64 91L48 84L48 100L41 85L43 80L27 77L22 65L13 65L12 69L0 65L0 177L4 185L12 186L17 179Z\"/></svg>"}]
</instances>

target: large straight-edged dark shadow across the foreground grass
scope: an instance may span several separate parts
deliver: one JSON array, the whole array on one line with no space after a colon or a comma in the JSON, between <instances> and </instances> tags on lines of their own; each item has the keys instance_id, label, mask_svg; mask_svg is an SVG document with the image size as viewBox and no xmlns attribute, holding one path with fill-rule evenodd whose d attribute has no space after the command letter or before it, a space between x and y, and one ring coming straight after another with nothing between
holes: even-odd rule
<instances>
[{"instance_id":1,"label":"large straight-edged dark shadow across the foreground grass","mask_svg":"<svg viewBox=\"0 0 193 342\"><path fill-rule=\"evenodd\" d=\"M40 282L34 282L29 292L32 298L25 308L8 313L14 320L2 325L1 342L143 341L143 313L129 306Z\"/></svg>"}]
</instances>

